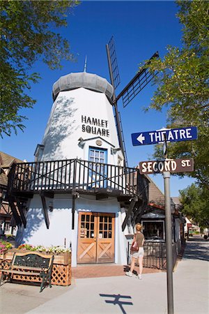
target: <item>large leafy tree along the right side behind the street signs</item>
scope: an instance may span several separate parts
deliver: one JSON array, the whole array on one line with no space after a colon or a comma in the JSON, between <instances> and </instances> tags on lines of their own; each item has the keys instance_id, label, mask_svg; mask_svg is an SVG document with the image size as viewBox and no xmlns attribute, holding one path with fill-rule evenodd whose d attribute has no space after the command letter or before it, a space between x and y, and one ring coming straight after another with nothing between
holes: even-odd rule
<instances>
[{"instance_id":1,"label":"large leafy tree along the right side behind the street signs","mask_svg":"<svg viewBox=\"0 0 209 314\"><path fill-rule=\"evenodd\" d=\"M197 126L198 140L168 145L169 158L194 158L194 172L177 174L194 177L209 188L209 2L177 1L183 24L183 47L168 47L163 59L147 66L155 75L157 89L148 109L168 107L167 127ZM155 148L162 157L162 147Z\"/></svg>"}]
</instances>

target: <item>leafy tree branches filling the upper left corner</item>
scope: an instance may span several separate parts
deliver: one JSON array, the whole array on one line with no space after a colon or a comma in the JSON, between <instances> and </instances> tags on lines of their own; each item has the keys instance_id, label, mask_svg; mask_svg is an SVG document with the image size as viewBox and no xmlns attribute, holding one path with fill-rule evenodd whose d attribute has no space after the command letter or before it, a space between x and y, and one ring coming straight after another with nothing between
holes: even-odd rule
<instances>
[{"instance_id":1,"label":"leafy tree branches filling the upper left corner","mask_svg":"<svg viewBox=\"0 0 209 314\"><path fill-rule=\"evenodd\" d=\"M27 92L39 74L31 68L42 60L51 69L61 68L61 60L72 60L69 43L54 31L66 27L66 17L78 1L1 1L0 50L0 135L24 129L26 117L20 110L33 107L36 100Z\"/></svg>"}]
</instances>

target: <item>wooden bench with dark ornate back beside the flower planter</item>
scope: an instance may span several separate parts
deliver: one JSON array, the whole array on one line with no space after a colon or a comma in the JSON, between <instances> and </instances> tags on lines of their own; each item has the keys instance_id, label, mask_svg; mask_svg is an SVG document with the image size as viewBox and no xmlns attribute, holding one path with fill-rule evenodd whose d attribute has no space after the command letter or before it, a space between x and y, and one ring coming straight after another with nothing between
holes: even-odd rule
<instances>
[{"instance_id":1,"label":"wooden bench with dark ornate back beside the flower planter","mask_svg":"<svg viewBox=\"0 0 209 314\"><path fill-rule=\"evenodd\" d=\"M52 287L52 265L54 261L54 255L42 254L39 252L30 253L14 253L13 260L10 264L9 269L0 269L1 271L1 281L4 280L5 276L8 276L11 282L11 276L20 275L21 280L28 281L26 278L33 278L33 276L38 276L42 278L40 285L40 292L47 282L49 282L49 287ZM31 281L31 279L29 279Z\"/></svg>"}]
</instances>

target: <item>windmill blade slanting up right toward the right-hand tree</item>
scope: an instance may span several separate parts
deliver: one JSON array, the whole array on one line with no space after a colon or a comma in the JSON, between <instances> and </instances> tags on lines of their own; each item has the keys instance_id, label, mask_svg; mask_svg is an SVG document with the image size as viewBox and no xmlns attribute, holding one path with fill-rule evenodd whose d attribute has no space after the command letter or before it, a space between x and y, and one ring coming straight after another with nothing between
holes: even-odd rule
<instances>
[{"instance_id":1,"label":"windmill blade slanting up right toward the right-hand tree","mask_svg":"<svg viewBox=\"0 0 209 314\"><path fill-rule=\"evenodd\" d=\"M158 52L155 52L153 56L150 58L158 58ZM148 61L150 63L150 61ZM146 63L146 64L148 64ZM135 75L132 80L126 85L126 87L121 91L121 93L116 97L116 101L118 101L121 97L123 100L123 107L126 107L130 101L139 94L139 92L146 87L148 82L152 80L154 75L149 72L147 68L141 68L141 70Z\"/></svg>"}]
</instances>

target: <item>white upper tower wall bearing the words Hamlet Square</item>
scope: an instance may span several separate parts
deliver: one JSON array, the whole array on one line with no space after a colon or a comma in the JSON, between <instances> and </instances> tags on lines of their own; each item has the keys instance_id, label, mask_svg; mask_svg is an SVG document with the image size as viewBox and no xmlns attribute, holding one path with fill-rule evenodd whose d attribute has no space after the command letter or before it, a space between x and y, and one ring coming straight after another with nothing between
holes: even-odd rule
<instances>
[{"instance_id":1,"label":"white upper tower wall bearing the words Hamlet Square","mask_svg":"<svg viewBox=\"0 0 209 314\"><path fill-rule=\"evenodd\" d=\"M100 119L103 126L95 126L85 119ZM104 135L88 133L91 127L104 130ZM79 145L79 138L84 146ZM96 144L100 137L102 146ZM93 139L93 140L91 140ZM80 158L88 160L89 146L108 149L107 163L118 165L118 155L123 160L121 151L111 154L112 148L119 148L118 135L111 103L105 94L79 88L61 91L56 98L42 140L45 146L42 160L63 160ZM121 163L123 165L123 161Z\"/></svg>"}]
</instances>

